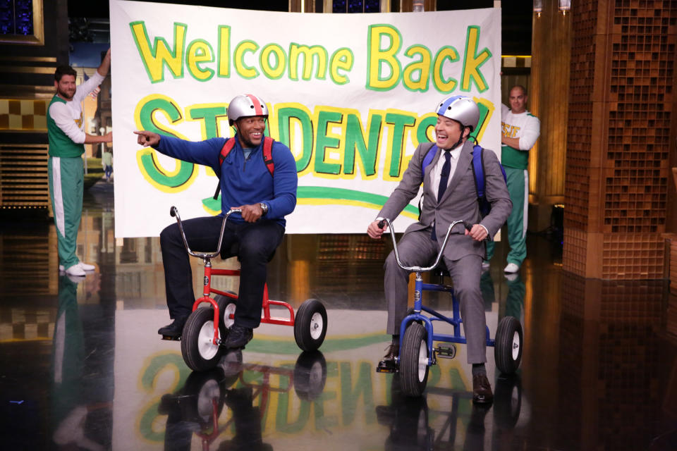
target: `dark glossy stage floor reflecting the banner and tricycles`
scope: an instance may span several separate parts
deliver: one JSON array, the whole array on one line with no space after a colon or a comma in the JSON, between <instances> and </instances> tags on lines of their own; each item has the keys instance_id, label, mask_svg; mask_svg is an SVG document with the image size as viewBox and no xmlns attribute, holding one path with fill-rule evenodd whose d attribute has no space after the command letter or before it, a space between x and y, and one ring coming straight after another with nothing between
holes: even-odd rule
<instances>
[{"instance_id":1,"label":"dark glossy stage floor reflecting the banner and tricycles","mask_svg":"<svg viewBox=\"0 0 677 451\"><path fill-rule=\"evenodd\" d=\"M191 373L180 343L156 333L169 322L159 240L115 240L113 215L111 185L97 183L78 244L97 270L84 280L59 276L53 225L1 223L3 450L677 450L677 303L664 280L572 276L542 235L508 280L499 245L482 276L487 322L493 336L502 316L520 319L523 361L501 376L488 348L496 399L474 407L463 345L420 398L375 372L389 341L387 242L287 236L270 295L322 300L320 351L302 354L290 327L264 325L241 355ZM450 309L446 295L428 299Z\"/></svg>"}]
</instances>

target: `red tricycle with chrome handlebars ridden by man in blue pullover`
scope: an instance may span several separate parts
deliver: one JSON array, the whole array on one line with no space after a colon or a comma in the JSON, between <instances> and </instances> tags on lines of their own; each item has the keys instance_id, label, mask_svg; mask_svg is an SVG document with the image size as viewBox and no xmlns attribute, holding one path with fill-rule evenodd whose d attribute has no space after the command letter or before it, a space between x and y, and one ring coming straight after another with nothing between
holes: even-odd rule
<instances>
[{"instance_id":1,"label":"red tricycle with chrome handlebars ridden by man in blue pullover","mask_svg":"<svg viewBox=\"0 0 677 451\"><path fill-rule=\"evenodd\" d=\"M188 246L178 209L172 206L169 210L169 214L176 217L181 237L183 237L183 245L188 254L202 259L205 263L205 286L202 290L202 297L195 300L193 313L188 316L181 336L183 360L194 371L211 369L219 362L221 351L225 349L223 344L226 341L228 328L233 325L234 321L233 315L237 307L238 296L233 292L212 288L212 276L240 276L239 269L212 268L212 259L221 253L226 221L233 213L241 213L241 210L233 209L224 215L219 244L215 252L193 252ZM216 296L212 298L212 294ZM201 306L200 304L208 305ZM289 317L271 316L271 305L285 307L289 311ZM293 326L296 344L304 351L317 350L324 341L324 335L327 334L327 310L324 309L322 302L317 299L307 299L294 314L294 309L287 302L268 298L268 285L264 286L261 322Z\"/></svg>"}]
</instances>

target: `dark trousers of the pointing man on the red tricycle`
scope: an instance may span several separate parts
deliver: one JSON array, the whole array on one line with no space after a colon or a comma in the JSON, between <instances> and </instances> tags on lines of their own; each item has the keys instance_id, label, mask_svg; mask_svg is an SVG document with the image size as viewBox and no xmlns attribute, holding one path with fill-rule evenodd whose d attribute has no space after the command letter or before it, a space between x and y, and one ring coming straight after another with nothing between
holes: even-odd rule
<instances>
[{"instance_id":1,"label":"dark trousers of the pointing man on the red tricycle","mask_svg":"<svg viewBox=\"0 0 677 451\"><path fill-rule=\"evenodd\" d=\"M219 244L220 216L194 218L183 221L183 230L190 249L214 252ZM235 323L255 328L261 322L263 288L266 283L267 264L280 245L284 228L275 221L260 220L255 223L228 221L221 249L237 247L240 260L240 290L238 292ZM181 231L174 223L160 233L162 264L167 307L171 319L188 316L193 310L193 274L190 257L183 246Z\"/></svg>"}]
</instances>

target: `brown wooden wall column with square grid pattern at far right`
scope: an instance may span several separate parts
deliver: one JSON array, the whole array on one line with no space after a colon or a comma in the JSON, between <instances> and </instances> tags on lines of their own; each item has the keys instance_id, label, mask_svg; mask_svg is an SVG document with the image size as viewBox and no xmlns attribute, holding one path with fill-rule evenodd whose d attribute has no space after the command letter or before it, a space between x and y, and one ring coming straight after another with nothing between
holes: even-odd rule
<instances>
[{"instance_id":1,"label":"brown wooden wall column with square grid pattern at far right","mask_svg":"<svg viewBox=\"0 0 677 451\"><path fill-rule=\"evenodd\" d=\"M662 278L675 208L677 8L668 0L573 6L563 266L585 277ZM582 252L593 240L594 252Z\"/></svg>"}]
</instances>

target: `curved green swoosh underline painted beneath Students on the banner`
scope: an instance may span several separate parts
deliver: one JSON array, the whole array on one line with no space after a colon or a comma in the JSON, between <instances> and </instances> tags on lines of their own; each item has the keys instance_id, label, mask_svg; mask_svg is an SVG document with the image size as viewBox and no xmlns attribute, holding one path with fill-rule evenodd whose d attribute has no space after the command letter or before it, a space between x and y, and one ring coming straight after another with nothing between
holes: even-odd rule
<instances>
[{"instance_id":1,"label":"curved green swoosh underline painted beneath Students on the banner","mask_svg":"<svg viewBox=\"0 0 677 451\"><path fill-rule=\"evenodd\" d=\"M382 196L381 194L374 194L372 192L363 192L357 190L346 190L345 188L334 188L334 187L322 187L322 186L300 186L297 191L298 199L317 199L323 200L326 204L332 204L334 202L341 204L350 204L350 202L355 202L355 204L370 204L374 208L381 208L388 200L388 197ZM334 202L332 202L334 201ZM219 214L221 211L221 197L214 200L213 197L207 197L202 199L202 205L207 211L211 214ZM418 216L418 208L412 204L408 204L404 207L405 213L408 213L408 216Z\"/></svg>"}]
</instances>

